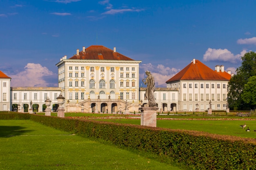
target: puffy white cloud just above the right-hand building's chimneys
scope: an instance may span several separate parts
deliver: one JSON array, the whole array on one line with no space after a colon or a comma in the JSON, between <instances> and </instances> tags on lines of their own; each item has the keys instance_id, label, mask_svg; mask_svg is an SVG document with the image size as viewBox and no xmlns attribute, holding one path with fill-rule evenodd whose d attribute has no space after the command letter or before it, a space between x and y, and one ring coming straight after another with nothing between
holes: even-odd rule
<instances>
[{"instance_id":1,"label":"puffy white cloud just above the right-hand building's chimneys","mask_svg":"<svg viewBox=\"0 0 256 170\"><path fill-rule=\"evenodd\" d=\"M237 63L240 61L240 57L243 56L247 51L243 50L240 54L234 55L227 49L211 49L208 48L204 53L204 61L225 61L231 63Z\"/></svg>"}]
</instances>

